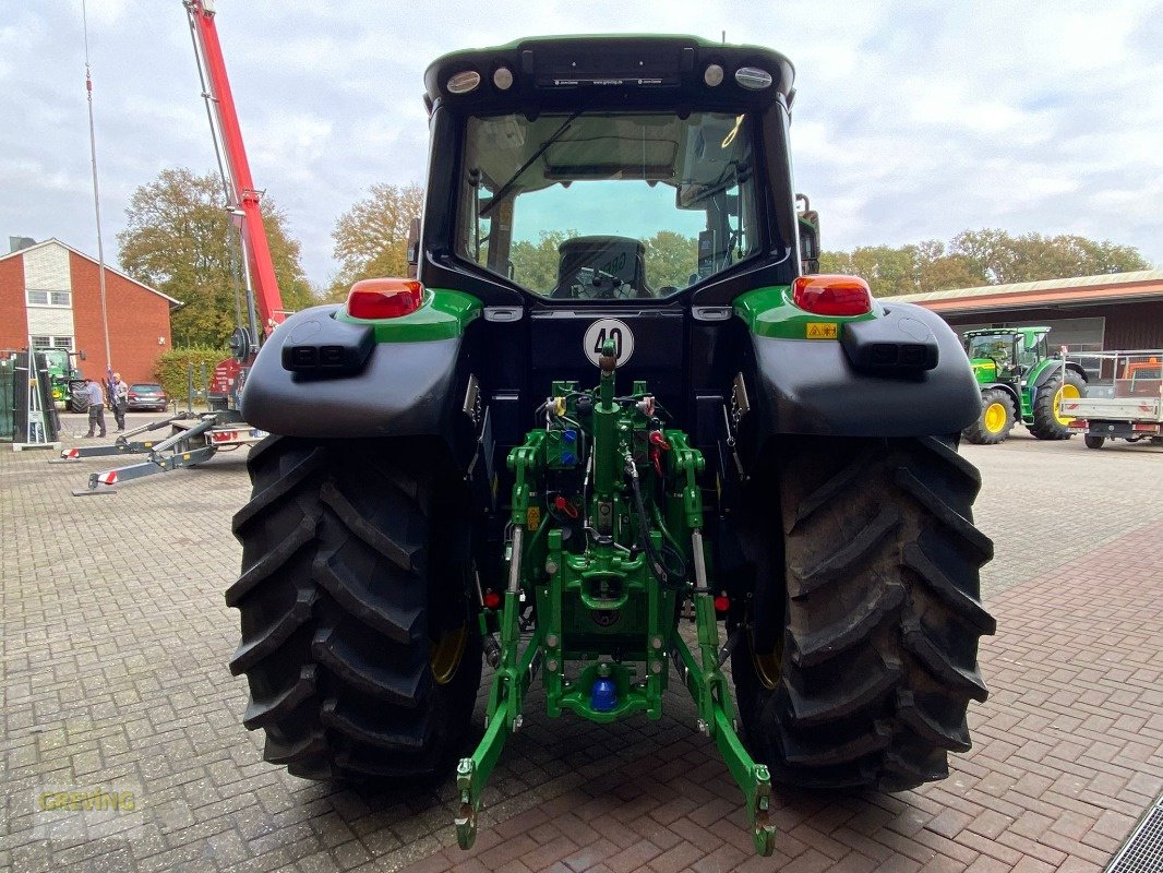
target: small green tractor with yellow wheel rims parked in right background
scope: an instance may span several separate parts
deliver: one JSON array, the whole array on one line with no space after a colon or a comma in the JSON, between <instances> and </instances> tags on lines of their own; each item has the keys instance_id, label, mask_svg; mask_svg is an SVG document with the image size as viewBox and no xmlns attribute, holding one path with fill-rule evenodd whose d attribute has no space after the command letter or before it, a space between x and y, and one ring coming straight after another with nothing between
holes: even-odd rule
<instances>
[{"instance_id":1,"label":"small green tractor with yellow wheel rims parked in right background","mask_svg":"<svg viewBox=\"0 0 1163 873\"><path fill-rule=\"evenodd\" d=\"M1062 398L1084 397L1086 374L1073 361L1050 357L1049 327L983 327L966 331L965 352L982 389L982 411L962 435L992 446L1021 423L1040 440L1070 439ZM1063 375L1064 374L1064 375Z\"/></svg>"}]
</instances>

